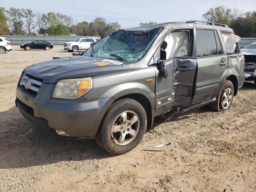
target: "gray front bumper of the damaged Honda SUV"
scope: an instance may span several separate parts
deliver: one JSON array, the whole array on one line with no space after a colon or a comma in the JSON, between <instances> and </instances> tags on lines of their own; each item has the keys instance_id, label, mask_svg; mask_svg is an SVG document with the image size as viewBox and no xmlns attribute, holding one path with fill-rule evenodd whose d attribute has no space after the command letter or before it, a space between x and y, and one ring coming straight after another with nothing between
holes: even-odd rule
<instances>
[{"instance_id":1,"label":"gray front bumper of the damaged Honda SUV","mask_svg":"<svg viewBox=\"0 0 256 192\"><path fill-rule=\"evenodd\" d=\"M51 98L53 88L54 84L43 83L37 95L32 98L23 92L22 87L17 86L16 106L21 114L48 134L57 135L55 130L59 130L66 132L70 138L94 138L114 98Z\"/></svg>"}]
</instances>

